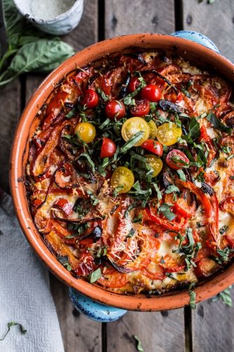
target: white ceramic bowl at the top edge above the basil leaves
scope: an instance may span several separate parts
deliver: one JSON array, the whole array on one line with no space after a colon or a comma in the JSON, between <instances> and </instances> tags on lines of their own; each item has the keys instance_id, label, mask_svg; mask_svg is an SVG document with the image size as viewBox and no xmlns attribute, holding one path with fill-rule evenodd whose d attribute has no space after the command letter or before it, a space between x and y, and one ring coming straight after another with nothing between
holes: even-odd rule
<instances>
[{"instance_id":1,"label":"white ceramic bowl at the top edge above the basil leaves","mask_svg":"<svg viewBox=\"0 0 234 352\"><path fill-rule=\"evenodd\" d=\"M66 12L56 15L56 17L49 19L47 19L48 16L46 16L46 18L36 18L32 12L32 0L13 1L18 11L27 18L27 20L30 20L32 25L39 28L39 30L54 35L67 34L73 30L74 27L77 27L82 18L84 8L84 0L77 0ZM63 0L60 1L63 3ZM40 6L40 4L38 4L38 6Z\"/></svg>"}]
</instances>

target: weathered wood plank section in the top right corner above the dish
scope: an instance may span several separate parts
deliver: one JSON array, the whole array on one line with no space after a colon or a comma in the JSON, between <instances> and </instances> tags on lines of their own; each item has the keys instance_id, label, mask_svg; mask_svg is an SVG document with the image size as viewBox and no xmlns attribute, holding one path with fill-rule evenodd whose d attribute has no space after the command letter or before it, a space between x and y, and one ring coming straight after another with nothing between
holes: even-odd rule
<instances>
[{"instance_id":1,"label":"weathered wood plank section in the top right corner above the dish","mask_svg":"<svg viewBox=\"0 0 234 352\"><path fill-rule=\"evenodd\" d=\"M221 54L234 61L234 1L215 1L207 4L197 0L183 1L183 28L207 35Z\"/></svg>"}]
</instances>

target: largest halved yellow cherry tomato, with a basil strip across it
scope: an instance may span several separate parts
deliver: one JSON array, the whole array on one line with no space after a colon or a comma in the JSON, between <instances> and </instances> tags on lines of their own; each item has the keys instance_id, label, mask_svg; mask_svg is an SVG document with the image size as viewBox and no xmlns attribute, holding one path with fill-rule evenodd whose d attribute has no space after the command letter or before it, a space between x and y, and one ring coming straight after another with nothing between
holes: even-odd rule
<instances>
[{"instance_id":1,"label":"largest halved yellow cherry tomato, with a basil strip across it","mask_svg":"<svg viewBox=\"0 0 234 352\"><path fill-rule=\"evenodd\" d=\"M134 144L134 146L141 146L141 144L143 144L143 142L145 142L150 135L150 127L143 118L135 117L126 120L124 125L122 125L121 133L124 141L128 142L129 139L134 137L134 135L140 131L143 132L142 137L138 142L136 142L136 144Z\"/></svg>"}]
</instances>

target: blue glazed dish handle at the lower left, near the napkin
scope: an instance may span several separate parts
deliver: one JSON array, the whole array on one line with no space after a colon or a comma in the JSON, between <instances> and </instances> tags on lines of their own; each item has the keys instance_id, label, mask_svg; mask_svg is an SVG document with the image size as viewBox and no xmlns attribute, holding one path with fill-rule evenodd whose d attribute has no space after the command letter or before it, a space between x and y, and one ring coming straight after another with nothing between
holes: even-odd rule
<instances>
[{"instance_id":1,"label":"blue glazed dish handle at the lower left, near the napkin","mask_svg":"<svg viewBox=\"0 0 234 352\"><path fill-rule=\"evenodd\" d=\"M69 289L69 296L79 313L96 322L113 322L122 318L127 312L127 310L104 306L71 288Z\"/></svg>"}]
</instances>

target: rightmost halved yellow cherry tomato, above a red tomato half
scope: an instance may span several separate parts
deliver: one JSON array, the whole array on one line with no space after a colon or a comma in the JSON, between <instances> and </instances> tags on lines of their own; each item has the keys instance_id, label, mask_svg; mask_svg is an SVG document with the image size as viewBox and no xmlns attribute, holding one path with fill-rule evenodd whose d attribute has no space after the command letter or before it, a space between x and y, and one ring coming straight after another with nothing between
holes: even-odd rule
<instances>
[{"instance_id":1,"label":"rightmost halved yellow cherry tomato, above a red tomato half","mask_svg":"<svg viewBox=\"0 0 234 352\"><path fill-rule=\"evenodd\" d=\"M163 146L172 146L181 137L182 130L174 122L163 123L157 127L157 140Z\"/></svg>"}]
</instances>

